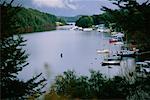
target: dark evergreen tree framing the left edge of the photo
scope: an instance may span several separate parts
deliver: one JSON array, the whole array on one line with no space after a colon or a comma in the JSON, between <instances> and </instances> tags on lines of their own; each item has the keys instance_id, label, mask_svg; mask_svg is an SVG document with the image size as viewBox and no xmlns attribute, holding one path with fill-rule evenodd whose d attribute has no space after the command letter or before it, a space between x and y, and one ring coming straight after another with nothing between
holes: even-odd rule
<instances>
[{"instance_id":1,"label":"dark evergreen tree framing the left edge of the photo","mask_svg":"<svg viewBox=\"0 0 150 100\"><path fill-rule=\"evenodd\" d=\"M45 78L40 78L41 74L22 81L17 75L27 63L28 55L22 49L25 46L25 40L19 35L15 23L15 15L19 12L20 7L12 7L14 0L10 3L0 4L1 10L1 37L0 37L0 74L1 74L1 98L2 99L25 99L29 97L38 97L44 91L46 85ZM40 79L39 79L40 78Z\"/></svg>"}]
</instances>

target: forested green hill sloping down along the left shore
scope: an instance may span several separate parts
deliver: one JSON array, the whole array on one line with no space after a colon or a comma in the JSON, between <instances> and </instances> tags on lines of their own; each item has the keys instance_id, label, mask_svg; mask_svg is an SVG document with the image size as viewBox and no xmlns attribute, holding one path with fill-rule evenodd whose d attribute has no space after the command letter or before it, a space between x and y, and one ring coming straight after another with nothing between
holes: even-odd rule
<instances>
[{"instance_id":1,"label":"forested green hill sloping down along the left shore","mask_svg":"<svg viewBox=\"0 0 150 100\"><path fill-rule=\"evenodd\" d=\"M56 22L65 24L63 19L57 18L55 15L31 8L21 7L18 9L19 12L15 16L15 22L18 26L18 31L21 33L54 30L56 28Z\"/></svg>"}]
</instances>

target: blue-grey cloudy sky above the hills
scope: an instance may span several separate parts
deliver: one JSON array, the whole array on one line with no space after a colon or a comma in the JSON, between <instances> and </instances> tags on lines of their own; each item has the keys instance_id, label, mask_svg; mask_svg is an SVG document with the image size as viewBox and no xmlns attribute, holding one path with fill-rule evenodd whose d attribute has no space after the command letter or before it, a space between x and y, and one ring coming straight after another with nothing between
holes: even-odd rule
<instances>
[{"instance_id":1,"label":"blue-grey cloudy sky above the hills","mask_svg":"<svg viewBox=\"0 0 150 100\"><path fill-rule=\"evenodd\" d=\"M117 8L109 0L15 0L14 4L22 4L23 7L38 9L56 16L94 15L102 13L102 6Z\"/></svg>"}]
</instances>

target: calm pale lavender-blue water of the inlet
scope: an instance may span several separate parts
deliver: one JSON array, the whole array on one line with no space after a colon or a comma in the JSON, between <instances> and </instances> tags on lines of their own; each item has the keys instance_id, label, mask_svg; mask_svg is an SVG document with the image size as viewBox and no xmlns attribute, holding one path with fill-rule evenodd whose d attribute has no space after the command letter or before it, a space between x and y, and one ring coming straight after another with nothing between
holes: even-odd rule
<instances>
[{"instance_id":1,"label":"calm pale lavender-blue water of the inlet","mask_svg":"<svg viewBox=\"0 0 150 100\"><path fill-rule=\"evenodd\" d=\"M134 70L134 59L125 58L121 66L101 66L107 55L97 54L96 50L109 49L116 53L119 45L109 44L110 35L96 31L55 30L23 35L27 39L25 49L30 54L30 65L23 69L19 77L23 80L39 73L52 84L58 74L74 70L77 74L89 75L89 69L99 70L107 77L124 75ZM63 54L61 58L60 54Z\"/></svg>"}]
</instances>

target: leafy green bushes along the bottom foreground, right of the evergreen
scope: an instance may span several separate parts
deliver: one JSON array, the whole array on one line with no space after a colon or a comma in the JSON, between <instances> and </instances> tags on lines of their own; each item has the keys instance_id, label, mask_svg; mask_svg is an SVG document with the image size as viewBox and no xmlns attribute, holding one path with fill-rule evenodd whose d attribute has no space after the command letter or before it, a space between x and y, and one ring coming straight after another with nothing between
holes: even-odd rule
<instances>
[{"instance_id":1,"label":"leafy green bushes along the bottom foreground, right of the evergreen","mask_svg":"<svg viewBox=\"0 0 150 100\"><path fill-rule=\"evenodd\" d=\"M119 76L107 79L99 71L91 70L89 77L77 76L74 71L67 71L56 77L53 90L59 96L70 99L145 100L150 96L148 79L149 74L145 78L135 77L135 80L131 82ZM140 94L139 91L142 93Z\"/></svg>"}]
</instances>

